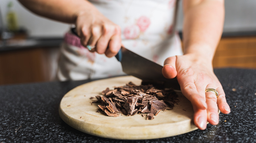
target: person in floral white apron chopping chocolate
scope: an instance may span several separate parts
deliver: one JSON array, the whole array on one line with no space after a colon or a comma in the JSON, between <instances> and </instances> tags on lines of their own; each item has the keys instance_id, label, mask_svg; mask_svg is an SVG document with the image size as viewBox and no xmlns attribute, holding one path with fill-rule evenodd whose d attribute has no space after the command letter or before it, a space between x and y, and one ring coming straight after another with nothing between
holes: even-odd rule
<instances>
[{"instance_id":1,"label":"person in floral white apron chopping chocolate","mask_svg":"<svg viewBox=\"0 0 256 143\"><path fill-rule=\"evenodd\" d=\"M71 32L65 35L60 80L123 74L114 57L123 45L163 65L164 77L177 77L182 93L192 103L194 123L199 129L205 129L207 121L218 124L218 108L224 114L230 112L212 66L223 30L224 0L182 1L183 53L174 32L175 0L19 2L38 15L75 24L80 39Z\"/></svg>"}]
</instances>

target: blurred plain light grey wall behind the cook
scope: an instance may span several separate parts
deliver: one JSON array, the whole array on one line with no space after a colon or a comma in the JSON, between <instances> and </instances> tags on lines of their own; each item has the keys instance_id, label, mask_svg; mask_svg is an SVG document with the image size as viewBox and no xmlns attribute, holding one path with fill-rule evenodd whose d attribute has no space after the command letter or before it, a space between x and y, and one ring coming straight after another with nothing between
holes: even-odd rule
<instances>
[{"instance_id":1,"label":"blurred plain light grey wall behind the cook","mask_svg":"<svg viewBox=\"0 0 256 143\"><path fill-rule=\"evenodd\" d=\"M5 19L7 3L12 1L17 11L18 23L29 29L30 36L62 36L70 25L39 17L25 9L17 0L1 0L0 8ZM181 6L181 5L180 5ZM225 0L226 16L224 31L256 30L255 0ZM179 8L178 29L182 29L182 10ZM5 22L5 21L4 21Z\"/></svg>"}]
</instances>

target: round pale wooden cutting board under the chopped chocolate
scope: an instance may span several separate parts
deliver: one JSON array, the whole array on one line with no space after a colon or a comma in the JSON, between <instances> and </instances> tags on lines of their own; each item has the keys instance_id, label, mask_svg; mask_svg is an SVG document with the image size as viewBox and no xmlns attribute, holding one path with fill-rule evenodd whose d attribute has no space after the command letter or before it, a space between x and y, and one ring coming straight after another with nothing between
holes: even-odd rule
<instances>
[{"instance_id":1,"label":"round pale wooden cutting board under the chopped chocolate","mask_svg":"<svg viewBox=\"0 0 256 143\"><path fill-rule=\"evenodd\" d=\"M193 124L193 108L191 103L181 94L178 104L172 110L160 111L155 119L146 120L146 116L109 117L96 112L96 99L107 87L124 86L133 82L141 84L141 80L133 76L121 76L97 80L75 87L61 100L59 115L71 127L91 135L114 139L153 139L180 135L197 127Z\"/></svg>"}]
</instances>

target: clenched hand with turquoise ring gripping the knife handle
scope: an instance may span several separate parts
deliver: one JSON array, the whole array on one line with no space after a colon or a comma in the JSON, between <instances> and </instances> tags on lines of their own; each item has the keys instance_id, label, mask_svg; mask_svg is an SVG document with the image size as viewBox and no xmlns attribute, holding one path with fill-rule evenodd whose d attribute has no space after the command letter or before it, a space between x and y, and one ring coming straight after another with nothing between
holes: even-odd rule
<instances>
[{"instance_id":1,"label":"clenched hand with turquoise ring gripping the knife handle","mask_svg":"<svg viewBox=\"0 0 256 143\"><path fill-rule=\"evenodd\" d=\"M83 46L95 46L91 52L115 56L121 48L121 29L99 11L80 12L76 16L76 31Z\"/></svg>"}]
</instances>

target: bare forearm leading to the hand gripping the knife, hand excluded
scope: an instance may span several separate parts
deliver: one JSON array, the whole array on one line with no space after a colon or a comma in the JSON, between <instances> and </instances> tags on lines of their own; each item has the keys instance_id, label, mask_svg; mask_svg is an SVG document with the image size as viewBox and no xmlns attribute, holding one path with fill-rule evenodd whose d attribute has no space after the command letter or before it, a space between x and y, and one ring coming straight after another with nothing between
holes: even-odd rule
<instances>
[{"instance_id":1,"label":"bare forearm leading to the hand gripping the knife, hand excluded","mask_svg":"<svg viewBox=\"0 0 256 143\"><path fill-rule=\"evenodd\" d=\"M32 12L65 23L75 23L82 12L96 12L87 0L19 0Z\"/></svg>"}]
</instances>

